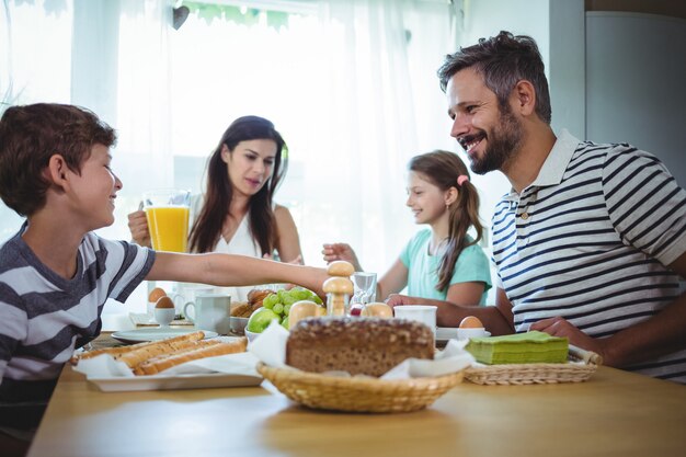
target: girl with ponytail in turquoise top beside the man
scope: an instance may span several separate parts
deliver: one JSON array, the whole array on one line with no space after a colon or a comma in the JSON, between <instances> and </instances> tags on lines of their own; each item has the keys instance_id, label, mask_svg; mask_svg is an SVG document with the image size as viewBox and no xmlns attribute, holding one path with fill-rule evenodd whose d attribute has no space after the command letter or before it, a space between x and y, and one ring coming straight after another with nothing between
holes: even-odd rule
<instances>
[{"instance_id":1,"label":"girl with ponytail in turquoise top beside the man","mask_svg":"<svg viewBox=\"0 0 686 457\"><path fill-rule=\"evenodd\" d=\"M377 297L385 299L407 286L408 295L446 300L445 306L483 305L491 275L489 261L477 244L483 227L479 221L479 194L469 181L467 167L456 153L433 151L412 158L408 168L407 205L415 222L430 228L408 242L378 282ZM475 228L476 239L467 235L470 227ZM327 262L346 260L362 271L347 244L324 244L322 253ZM448 313L439 307L438 324Z\"/></svg>"}]
</instances>

